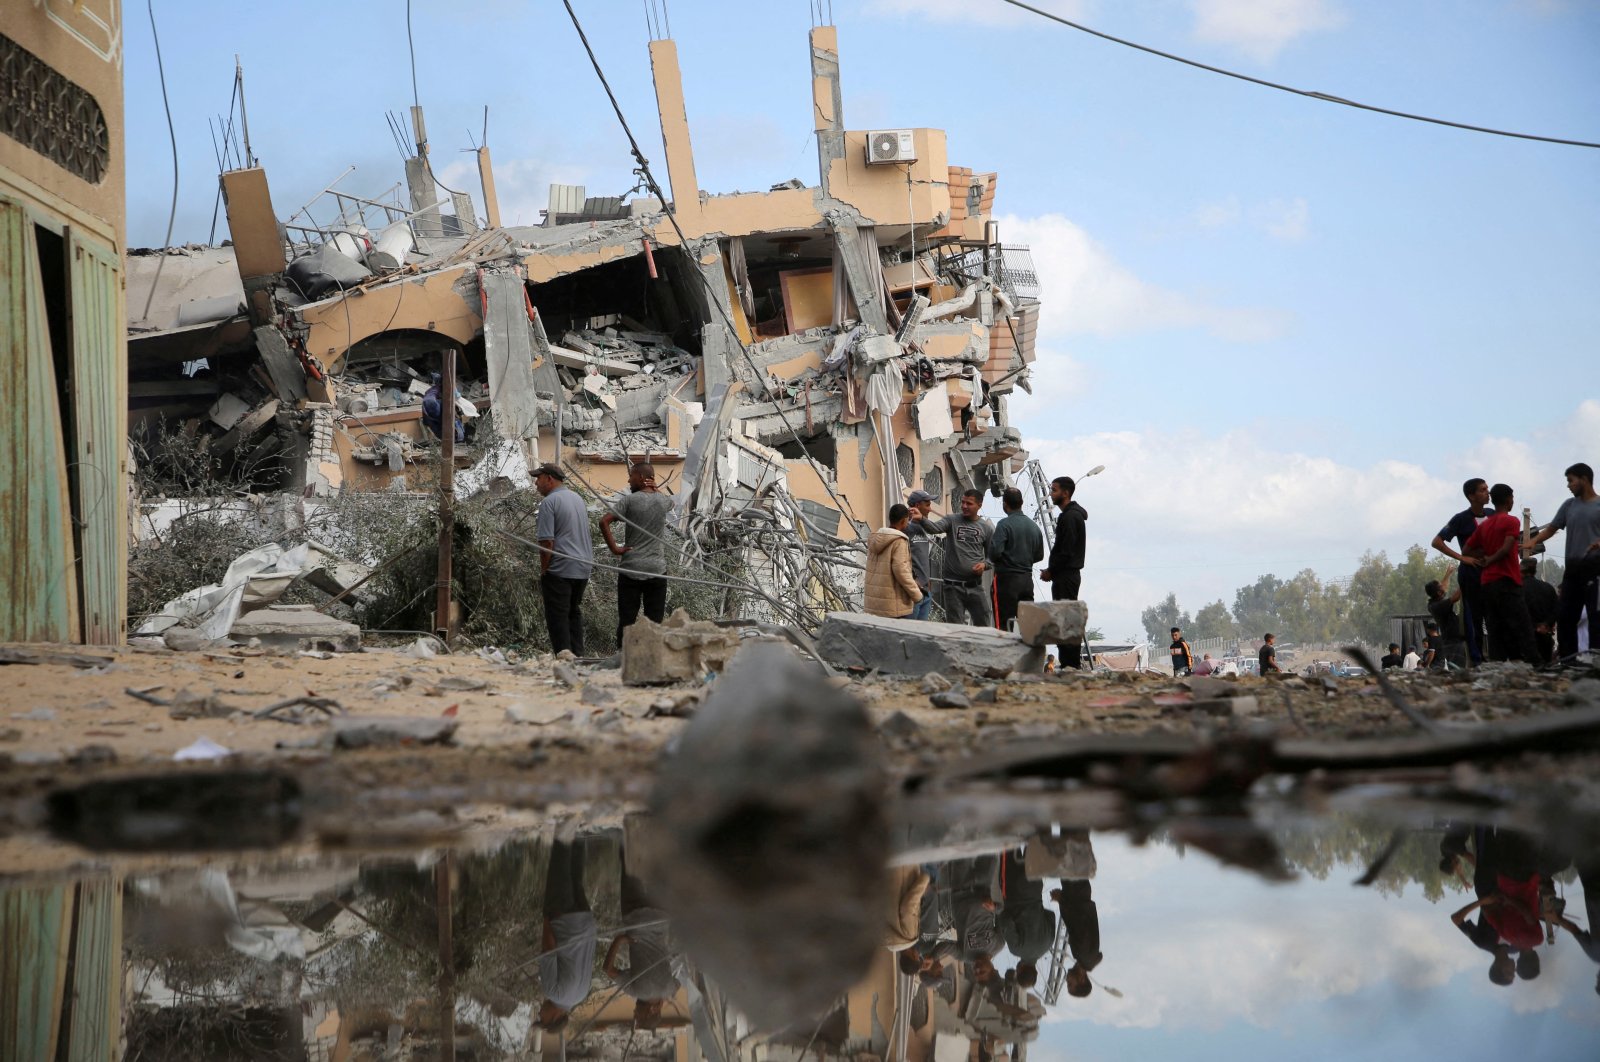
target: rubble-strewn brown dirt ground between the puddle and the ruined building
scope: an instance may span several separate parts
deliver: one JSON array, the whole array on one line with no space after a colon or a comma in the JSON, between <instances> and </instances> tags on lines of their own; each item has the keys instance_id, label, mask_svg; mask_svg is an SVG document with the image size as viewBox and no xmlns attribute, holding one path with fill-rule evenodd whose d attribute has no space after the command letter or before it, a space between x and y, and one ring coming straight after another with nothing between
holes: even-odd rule
<instances>
[{"instance_id":1,"label":"rubble-strewn brown dirt ground between the puddle and the ruined building","mask_svg":"<svg viewBox=\"0 0 1600 1062\"><path fill-rule=\"evenodd\" d=\"M43 662L0 667L0 873L70 862L37 844L40 796L98 777L270 768L304 785L323 841L350 843L381 840L378 824L397 817L413 832L451 832L504 820L517 808L637 803L656 757L706 689L626 688L618 670L582 664L560 669L574 680L568 685L550 657L8 649ZM1224 680L1243 694L1227 701L1197 696L1158 673L968 680L965 694L974 704L966 709L934 709L923 680L835 681L848 681L880 726L893 718L885 729L898 736L888 749L899 774L1006 741L1066 734L1261 728L1333 739L1413 729L1370 677ZM1397 683L1427 715L1456 721L1570 702L1568 680L1526 670L1408 675ZM341 718L448 718L456 729L442 745L344 749L334 747L333 725L317 709L296 704L278 709L277 718L254 715L294 697L323 699L315 704ZM226 752L176 758L203 741Z\"/></svg>"}]
</instances>

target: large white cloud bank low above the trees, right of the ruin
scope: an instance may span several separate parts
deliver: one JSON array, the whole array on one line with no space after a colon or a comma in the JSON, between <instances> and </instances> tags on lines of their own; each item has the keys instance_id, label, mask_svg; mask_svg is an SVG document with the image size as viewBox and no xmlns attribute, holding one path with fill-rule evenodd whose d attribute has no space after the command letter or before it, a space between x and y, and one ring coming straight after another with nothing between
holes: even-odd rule
<instances>
[{"instance_id":1,"label":"large white cloud bank low above the trees, right of the ruin","mask_svg":"<svg viewBox=\"0 0 1600 1062\"><path fill-rule=\"evenodd\" d=\"M1058 374L1056 357L1042 353L1038 379ZM1562 469L1600 453L1594 398L1544 432L1483 437L1445 462L1395 454L1362 465L1285 451L1250 429L1056 433L1062 387L1013 395L1010 414L1048 477L1106 465L1078 501L1090 512L1083 597L1091 622L1114 640L1139 637L1139 611L1168 590L1194 613L1218 598L1232 605L1237 587L1267 573L1282 579L1310 568L1328 581L1347 577L1366 550L1397 560L1462 505L1467 477L1510 483L1518 507L1544 520L1566 497Z\"/></svg>"}]
</instances>

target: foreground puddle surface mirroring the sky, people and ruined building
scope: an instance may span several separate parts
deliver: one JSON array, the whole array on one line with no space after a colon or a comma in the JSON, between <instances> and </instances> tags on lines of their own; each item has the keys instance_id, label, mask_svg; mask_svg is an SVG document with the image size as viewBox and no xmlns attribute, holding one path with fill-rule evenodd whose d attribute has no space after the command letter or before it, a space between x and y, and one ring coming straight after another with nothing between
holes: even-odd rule
<instances>
[{"instance_id":1,"label":"foreground puddle surface mirroring the sky, people and ruined building","mask_svg":"<svg viewBox=\"0 0 1600 1062\"><path fill-rule=\"evenodd\" d=\"M709 980L674 931L643 817L491 851L10 883L6 1057L1549 1059L1600 1036L1600 851L1341 817L1272 832L1277 883L1176 832L896 836L866 977L778 1028L738 1000L784 985Z\"/></svg>"}]
</instances>

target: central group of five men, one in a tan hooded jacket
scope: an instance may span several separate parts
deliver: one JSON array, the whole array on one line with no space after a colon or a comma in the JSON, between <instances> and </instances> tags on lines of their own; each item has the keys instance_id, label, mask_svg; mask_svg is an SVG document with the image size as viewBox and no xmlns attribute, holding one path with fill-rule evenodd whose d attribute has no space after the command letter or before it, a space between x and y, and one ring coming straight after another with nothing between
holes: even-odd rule
<instances>
[{"instance_id":1,"label":"central group of five men, one in a tan hooded jacket","mask_svg":"<svg viewBox=\"0 0 1600 1062\"><path fill-rule=\"evenodd\" d=\"M1050 584L1051 600L1077 601L1088 512L1072 501L1075 489L1066 475L1050 485L1050 501L1059 513L1048 560L1045 536L1022 512L1022 491L1014 486L1000 496L1005 517L998 523L978 515L984 504L979 489L963 491L960 512L949 517L933 515L928 491L912 491L906 504L890 505L888 523L867 539L867 613L931 619L938 589L947 622L1006 630L1018 605L1034 600L1034 566L1040 561L1048 563L1038 577ZM941 534L944 557L934 573L933 539ZM1082 643L1061 646L1061 662L1080 667Z\"/></svg>"}]
</instances>

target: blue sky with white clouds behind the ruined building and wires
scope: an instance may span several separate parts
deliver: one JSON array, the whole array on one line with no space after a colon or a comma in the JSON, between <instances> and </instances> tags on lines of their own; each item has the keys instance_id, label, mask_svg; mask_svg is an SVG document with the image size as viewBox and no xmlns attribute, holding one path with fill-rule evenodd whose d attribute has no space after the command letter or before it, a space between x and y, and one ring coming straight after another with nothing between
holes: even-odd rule
<instances>
[{"instance_id":1,"label":"blue sky with white clouds behind the ruined building and wires","mask_svg":"<svg viewBox=\"0 0 1600 1062\"><path fill-rule=\"evenodd\" d=\"M643 3L574 6L664 179ZM1595 0L1040 0L1194 59L1397 110L1600 141ZM224 10L227 14L218 14ZM174 242L205 240L238 53L280 216L400 179L405 5L155 14L178 125ZM669 5L701 187L816 181L803 0ZM1427 542L1469 475L1547 517L1600 464L1600 150L1358 112L1173 64L1000 0L838 0L845 122L939 126L1000 173L1006 242L1045 280L1035 397L1013 416L1086 483L1083 593L1109 637L1176 590L1190 611L1272 571L1347 576ZM160 243L171 160L142 5L130 5L128 229ZM550 181L632 163L560 3L416 0L437 170L490 106L507 221ZM469 134L470 131L470 134ZM461 187L458 184L458 187ZM219 237L226 235L226 226ZM1558 547L1560 541L1557 541Z\"/></svg>"}]
</instances>

